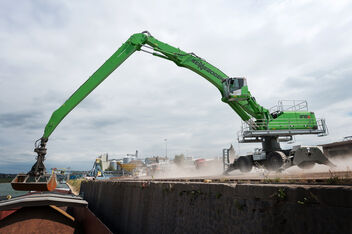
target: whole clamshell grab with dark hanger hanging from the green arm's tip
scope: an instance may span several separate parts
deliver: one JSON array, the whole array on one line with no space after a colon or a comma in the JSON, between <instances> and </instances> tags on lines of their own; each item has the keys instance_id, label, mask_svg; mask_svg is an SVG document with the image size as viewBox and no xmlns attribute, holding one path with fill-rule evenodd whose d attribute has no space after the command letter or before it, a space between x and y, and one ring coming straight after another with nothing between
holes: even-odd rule
<instances>
[{"instance_id":1,"label":"whole clamshell grab with dark hanger hanging from the green arm's tip","mask_svg":"<svg viewBox=\"0 0 352 234\"><path fill-rule=\"evenodd\" d=\"M39 141L39 140L38 140ZM57 181L55 174L46 174L44 160L46 155L47 139L41 138L40 145L35 144L34 152L37 155L37 161L27 174L18 174L11 182L14 190L22 191L53 191L56 188Z\"/></svg>"}]
</instances>

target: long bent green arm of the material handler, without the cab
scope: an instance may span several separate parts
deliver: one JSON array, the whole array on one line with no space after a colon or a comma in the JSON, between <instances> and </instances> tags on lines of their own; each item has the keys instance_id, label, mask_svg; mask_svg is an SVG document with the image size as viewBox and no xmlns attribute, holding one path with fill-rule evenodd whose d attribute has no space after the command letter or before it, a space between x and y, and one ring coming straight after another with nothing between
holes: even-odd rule
<instances>
[{"instance_id":1,"label":"long bent green arm of the material handler, without the cab","mask_svg":"<svg viewBox=\"0 0 352 234\"><path fill-rule=\"evenodd\" d=\"M149 52L146 49L152 49ZM212 83L225 96L224 82L229 78L218 68L209 64L204 59L196 56L194 53L186 53L178 48L170 46L164 42L155 39L148 32L137 33L132 35L88 80L82 84L67 101L55 110L47 123L43 140L47 140L59 123L70 113L85 97L87 97L101 82L103 82L116 68L118 68L130 55L135 51L149 52L154 56L173 61L180 67L190 69L201 75ZM244 87L246 88L246 87ZM248 89L247 89L248 92ZM249 92L248 92L249 93ZM250 94L249 94L250 95ZM227 102L232 109L243 120L249 120L251 114L258 115L258 118L264 118L262 114L266 109L257 104L250 96L248 104L247 101L239 102L228 101L226 98L222 99Z\"/></svg>"}]
</instances>

